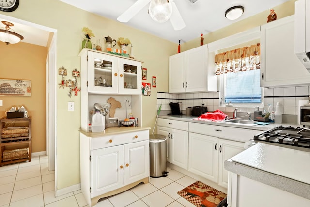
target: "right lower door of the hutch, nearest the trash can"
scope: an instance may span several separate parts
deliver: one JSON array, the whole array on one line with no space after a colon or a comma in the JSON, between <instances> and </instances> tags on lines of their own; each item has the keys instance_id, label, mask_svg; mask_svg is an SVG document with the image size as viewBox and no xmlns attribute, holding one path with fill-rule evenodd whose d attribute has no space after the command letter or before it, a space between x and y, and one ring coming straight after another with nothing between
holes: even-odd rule
<instances>
[{"instance_id":1,"label":"right lower door of the hutch, nearest the trash can","mask_svg":"<svg viewBox=\"0 0 310 207\"><path fill-rule=\"evenodd\" d=\"M124 185L150 175L149 141L124 145Z\"/></svg>"}]
</instances>

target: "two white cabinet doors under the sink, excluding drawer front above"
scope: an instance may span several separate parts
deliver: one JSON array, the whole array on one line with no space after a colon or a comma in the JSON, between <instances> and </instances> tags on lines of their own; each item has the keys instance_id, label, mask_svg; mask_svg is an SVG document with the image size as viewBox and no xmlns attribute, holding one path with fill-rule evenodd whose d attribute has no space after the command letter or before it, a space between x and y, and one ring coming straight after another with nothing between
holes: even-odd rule
<instances>
[{"instance_id":1,"label":"two white cabinet doors under the sink, excluding drawer front above","mask_svg":"<svg viewBox=\"0 0 310 207\"><path fill-rule=\"evenodd\" d=\"M244 150L244 143L189 132L188 171L227 188L224 161Z\"/></svg>"}]
</instances>

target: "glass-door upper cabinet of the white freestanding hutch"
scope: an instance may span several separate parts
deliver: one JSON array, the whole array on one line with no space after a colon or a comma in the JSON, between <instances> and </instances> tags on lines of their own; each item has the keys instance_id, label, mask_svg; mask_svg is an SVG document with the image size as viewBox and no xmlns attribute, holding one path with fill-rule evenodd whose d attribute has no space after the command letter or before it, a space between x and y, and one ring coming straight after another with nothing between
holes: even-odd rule
<instances>
[{"instance_id":1,"label":"glass-door upper cabinet of the white freestanding hutch","mask_svg":"<svg viewBox=\"0 0 310 207\"><path fill-rule=\"evenodd\" d=\"M83 49L82 84L93 94L140 94L142 84L141 62L104 52Z\"/></svg>"}]
</instances>

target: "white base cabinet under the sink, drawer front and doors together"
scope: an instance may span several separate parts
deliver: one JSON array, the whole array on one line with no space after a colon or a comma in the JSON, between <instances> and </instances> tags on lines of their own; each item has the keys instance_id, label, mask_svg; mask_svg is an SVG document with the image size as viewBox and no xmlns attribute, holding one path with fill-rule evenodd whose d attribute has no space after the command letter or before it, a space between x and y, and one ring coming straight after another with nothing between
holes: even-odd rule
<instances>
[{"instance_id":1,"label":"white base cabinet under the sink, drawer front and doors together","mask_svg":"<svg viewBox=\"0 0 310 207\"><path fill-rule=\"evenodd\" d=\"M189 123L188 171L227 188L224 161L244 150L256 130Z\"/></svg>"}]
</instances>

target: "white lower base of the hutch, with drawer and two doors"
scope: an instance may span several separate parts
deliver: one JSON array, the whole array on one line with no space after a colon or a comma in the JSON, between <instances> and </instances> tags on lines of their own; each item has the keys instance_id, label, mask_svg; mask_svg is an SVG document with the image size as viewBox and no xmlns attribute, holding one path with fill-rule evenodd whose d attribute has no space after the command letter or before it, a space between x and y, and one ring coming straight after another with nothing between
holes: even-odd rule
<instances>
[{"instance_id":1,"label":"white lower base of the hutch, with drawer and two doors","mask_svg":"<svg viewBox=\"0 0 310 207\"><path fill-rule=\"evenodd\" d=\"M149 178L149 130L103 137L80 133L81 190L93 206Z\"/></svg>"}]
</instances>

